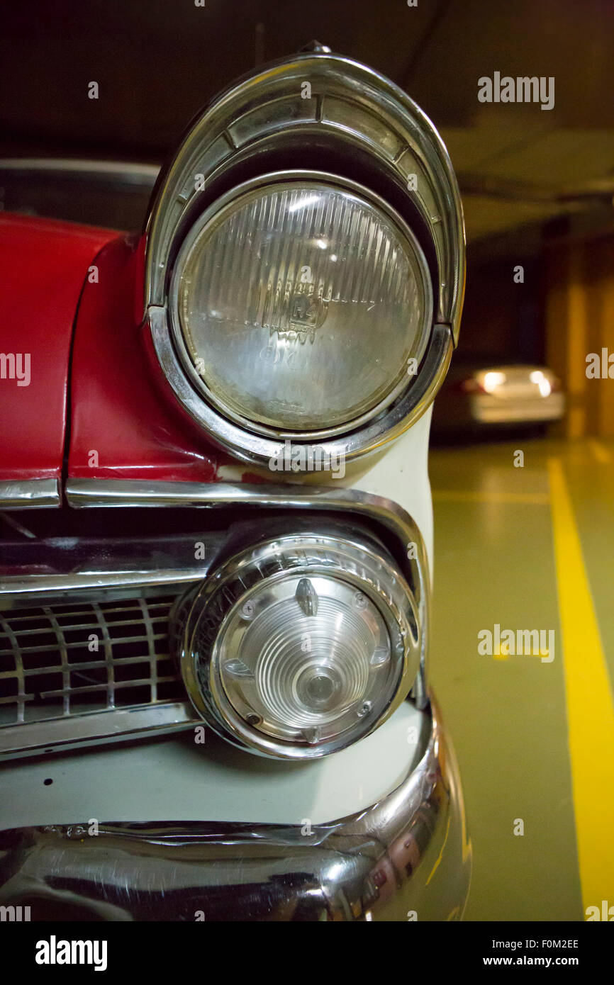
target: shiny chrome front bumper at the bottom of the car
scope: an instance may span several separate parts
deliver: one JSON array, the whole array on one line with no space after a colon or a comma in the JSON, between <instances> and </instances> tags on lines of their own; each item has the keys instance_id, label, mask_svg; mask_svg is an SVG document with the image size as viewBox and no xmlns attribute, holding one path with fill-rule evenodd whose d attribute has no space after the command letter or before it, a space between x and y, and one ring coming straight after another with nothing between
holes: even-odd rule
<instances>
[{"instance_id":1,"label":"shiny chrome front bumper at the bottom of the car","mask_svg":"<svg viewBox=\"0 0 614 985\"><path fill-rule=\"evenodd\" d=\"M0 903L33 920L460 919L471 852L436 714L406 779L313 825L83 823L0 834ZM305 833L304 833L305 832Z\"/></svg>"}]
</instances>

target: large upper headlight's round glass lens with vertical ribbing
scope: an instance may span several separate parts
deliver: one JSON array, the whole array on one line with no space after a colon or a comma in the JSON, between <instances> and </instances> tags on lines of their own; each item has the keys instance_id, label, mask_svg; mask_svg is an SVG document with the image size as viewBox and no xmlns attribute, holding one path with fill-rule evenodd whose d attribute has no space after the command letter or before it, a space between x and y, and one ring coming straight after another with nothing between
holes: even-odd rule
<instances>
[{"instance_id":1,"label":"large upper headlight's round glass lens with vertical ribbing","mask_svg":"<svg viewBox=\"0 0 614 985\"><path fill-rule=\"evenodd\" d=\"M431 308L398 217L314 180L252 189L207 217L179 253L175 312L218 409L305 434L368 420L407 386Z\"/></svg>"}]
</instances>

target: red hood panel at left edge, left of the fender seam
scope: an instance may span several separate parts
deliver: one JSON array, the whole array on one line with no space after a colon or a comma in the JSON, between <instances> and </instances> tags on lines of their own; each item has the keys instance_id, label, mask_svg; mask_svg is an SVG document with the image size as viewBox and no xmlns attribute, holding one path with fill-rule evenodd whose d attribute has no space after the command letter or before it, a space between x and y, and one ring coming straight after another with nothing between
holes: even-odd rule
<instances>
[{"instance_id":1,"label":"red hood panel at left edge, left of the fender seam","mask_svg":"<svg viewBox=\"0 0 614 985\"><path fill-rule=\"evenodd\" d=\"M79 297L88 268L116 235L72 223L0 214L2 481L61 475L70 347Z\"/></svg>"}]
</instances>

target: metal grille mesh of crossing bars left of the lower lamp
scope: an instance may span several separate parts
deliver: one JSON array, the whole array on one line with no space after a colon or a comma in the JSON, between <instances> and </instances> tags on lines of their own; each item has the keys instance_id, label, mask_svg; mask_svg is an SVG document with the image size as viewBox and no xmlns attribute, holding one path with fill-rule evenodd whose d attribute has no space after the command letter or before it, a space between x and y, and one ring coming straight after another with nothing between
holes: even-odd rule
<instances>
[{"instance_id":1,"label":"metal grille mesh of crossing bars left of the lower lamp","mask_svg":"<svg viewBox=\"0 0 614 985\"><path fill-rule=\"evenodd\" d=\"M184 699L169 648L172 602L0 613L0 726Z\"/></svg>"}]
</instances>

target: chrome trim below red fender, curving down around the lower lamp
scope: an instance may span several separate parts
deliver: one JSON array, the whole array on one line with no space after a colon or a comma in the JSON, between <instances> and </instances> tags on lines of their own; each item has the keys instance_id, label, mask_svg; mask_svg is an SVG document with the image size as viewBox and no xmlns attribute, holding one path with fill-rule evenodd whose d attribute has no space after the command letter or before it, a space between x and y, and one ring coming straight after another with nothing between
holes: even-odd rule
<instances>
[{"instance_id":1,"label":"chrome trim below red fender, curving down around the lower lamp","mask_svg":"<svg viewBox=\"0 0 614 985\"><path fill-rule=\"evenodd\" d=\"M427 653L430 625L429 567L422 535L409 513L384 496L354 489L268 486L230 483L147 483L137 480L69 479L65 487L70 506L78 509L127 506L270 506L284 509L334 510L358 513L377 521L396 537L406 558L407 545L416 545L417 557L406 559L418 603L422 634L421 672L413 694L418 707L426 702Z\"/></svg>"}]
</instances>

